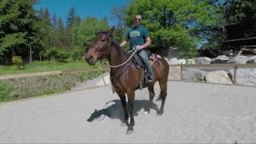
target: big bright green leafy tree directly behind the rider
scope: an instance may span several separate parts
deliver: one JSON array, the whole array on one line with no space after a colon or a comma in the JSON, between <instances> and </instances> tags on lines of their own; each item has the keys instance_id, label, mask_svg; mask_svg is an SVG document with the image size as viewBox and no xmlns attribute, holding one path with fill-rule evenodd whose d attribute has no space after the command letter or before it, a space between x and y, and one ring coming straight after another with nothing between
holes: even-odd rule
<instances>
[{"instance_id":1,"label":"big bright green leafy tree directly behind the rider","mask_svg":"<svg viewBox=\"0 0 256 144\"><path fill-rule=\"evenodd\" d=\"M194 57L198 44L206 41L206 27L218 23L217 8L208 0L133 0L126 17L128 26L135 14L142 14L154 50L179 47L185 58Z\"/></svg>"}]
</instances>

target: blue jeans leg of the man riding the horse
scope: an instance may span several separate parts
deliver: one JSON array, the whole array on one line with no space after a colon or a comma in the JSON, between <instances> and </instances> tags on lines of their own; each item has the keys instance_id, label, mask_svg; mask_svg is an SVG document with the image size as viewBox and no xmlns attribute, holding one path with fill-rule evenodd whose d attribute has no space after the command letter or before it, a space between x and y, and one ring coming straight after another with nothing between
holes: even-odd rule
<instances>
[{"instance_id":1,"label":"blue jeans leg of the man riding the horse","mask_svg":"<svg viewBox=\"0 0 256 144\"><path fill-rule=\"evenodd\" d=\"M147 74L149 75L150 79L154 80L153 70L152 70L152 67L150 65L150 60L149 60L149 57L146 53L146 50L140 50L140 51L138 51L138 54L142 58L142 61L146 66L146 71L147 71Z\"/></svg>"}]
</instances>

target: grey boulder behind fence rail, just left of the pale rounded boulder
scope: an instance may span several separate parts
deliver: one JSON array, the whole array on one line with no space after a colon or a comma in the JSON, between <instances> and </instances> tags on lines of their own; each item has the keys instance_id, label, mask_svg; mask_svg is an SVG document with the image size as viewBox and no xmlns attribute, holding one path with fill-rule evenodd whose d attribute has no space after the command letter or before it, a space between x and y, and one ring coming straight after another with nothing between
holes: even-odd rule
<instances>
[{"instance_id":1,"label":"grey boulder behind fence rail, just left of the pale rounded boulder","mask_svg":"<svg viewBox=\"0 0 256 144\"><path fill-rule=\"evenodd\" d=\"M205 81L205 76L205 71L189 68L184 71L183 79L192 81Z\"/></svg>"}]
</instances>

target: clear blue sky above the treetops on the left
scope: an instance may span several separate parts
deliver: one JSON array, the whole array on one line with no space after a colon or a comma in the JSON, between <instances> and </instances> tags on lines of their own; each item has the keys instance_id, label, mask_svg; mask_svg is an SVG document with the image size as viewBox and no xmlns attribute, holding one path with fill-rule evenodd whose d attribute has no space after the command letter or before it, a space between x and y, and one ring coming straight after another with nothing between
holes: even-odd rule
<instances>
[{"instance_id":1,"label":"clear blue sky above the treetops on the left","mask_svg":"<svg viewBox=\"0 0 256 144\"><path fill-rule=\"evenodd\" d=\"M34 8L39 10L41 7L47 7L51 16L56 14L57 17L61 16L63 21L66 22L66 16L70 7L73 6L76 14L82 19L87 16L96 18L106 16L109 18L110 25L114 25L116 22L110 19L112 8L127 5L129 2L130 0L40 0Z\"/></svg>"}]
</instances>

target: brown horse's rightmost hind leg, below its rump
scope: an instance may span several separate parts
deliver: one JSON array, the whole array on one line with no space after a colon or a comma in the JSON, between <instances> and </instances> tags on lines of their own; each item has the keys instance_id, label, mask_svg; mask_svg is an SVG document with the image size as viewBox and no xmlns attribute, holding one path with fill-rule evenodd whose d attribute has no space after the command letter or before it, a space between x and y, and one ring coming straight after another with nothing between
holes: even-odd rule
<instances>
[{"instance_id":1,"label":"brown horse's rightmost hind leg, below its rump","mask_svg":"<svg viewBox=\"0 0 256 144\"><path fill-rule=\"evenodd\" d=\"M166 92L166 87L167 87L167 81L166 80L160 80L159 81L159 85L160 85L160 94L159 94L159 98L162 99L162 103L161 103L161 107L160 110L158 110L158 114L162 115L163 114L163 109L165 106L165 102L166 102L166 96L167 96L167 92Z\"/></svg>"}]
</instances>

